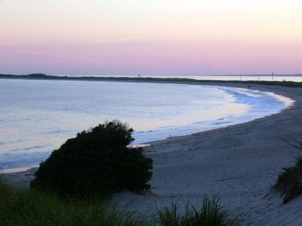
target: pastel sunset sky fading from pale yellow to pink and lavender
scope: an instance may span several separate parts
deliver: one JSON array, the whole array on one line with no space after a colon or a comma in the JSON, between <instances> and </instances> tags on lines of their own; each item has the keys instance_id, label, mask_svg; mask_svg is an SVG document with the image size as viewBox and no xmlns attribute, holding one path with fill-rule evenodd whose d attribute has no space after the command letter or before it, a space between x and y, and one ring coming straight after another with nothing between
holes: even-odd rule
<instances>
[{"instance_id":1,"label":"pastel sunset sky fading from pale yellow to pink and lavender","mask_svg":"<svg viewBox=\"0 0 302 226\"><path fill-rule=\"evenodd\" d=\"M0 0L0 74L301 74L302 1Z\"/></svg>"}]
</instances>

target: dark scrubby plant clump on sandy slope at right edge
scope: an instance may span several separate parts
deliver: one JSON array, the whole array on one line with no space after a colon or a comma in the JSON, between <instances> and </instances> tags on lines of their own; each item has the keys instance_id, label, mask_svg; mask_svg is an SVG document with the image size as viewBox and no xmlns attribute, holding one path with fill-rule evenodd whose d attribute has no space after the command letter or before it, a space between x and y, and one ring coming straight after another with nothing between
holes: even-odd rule
<instances>
[{"instance_id":1,"label":"dark scrubby plant clump on sandy slope at right edge","mask_svg":"<svg viewBox=\"0 0 302 226\"><path fill-rule=\"evenodd\" d=\"M285 142L301 152L302 142L298 142L297 140L293 141L294 142ZM279 173L273 188L281 193L283 203L285 204L302 194L302 156L299 155L295 159L293 166L284 167L282 169L283 172Z\"/></svg>"}]
</instances>

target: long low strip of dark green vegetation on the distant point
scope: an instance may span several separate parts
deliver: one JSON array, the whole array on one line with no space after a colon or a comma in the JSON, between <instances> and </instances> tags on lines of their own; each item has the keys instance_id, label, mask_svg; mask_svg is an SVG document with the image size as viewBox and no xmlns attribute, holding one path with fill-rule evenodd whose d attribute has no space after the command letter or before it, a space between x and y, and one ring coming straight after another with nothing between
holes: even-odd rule
<instances>
[{"instance_id":1,"label":"long low strip of dark green vegetation on the distant point","mask_svg":"<svg viewBox=\"0 0 302 226\"><path fill-rule=\"evenodd\" d=\"M297 76L301 76L298 74ZM150 77L69 77L69 76L56 76L56 75L45 75L45 74L29 74L29 75L11 75L11 74L0 74L0 78L19 78L19 79L59 79L59 80L130 80L130 81L163 81L163 82L199 82L199 83L243 83L243 84L259 84L259 85L272 85L272 86L288 86L288 87L302 87L302 82L292 81L238 81L238 80L198 80L190 78L150 78Z\"/></svg>"}]
</instances>

